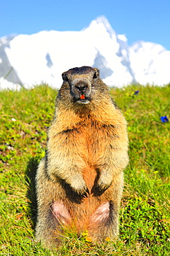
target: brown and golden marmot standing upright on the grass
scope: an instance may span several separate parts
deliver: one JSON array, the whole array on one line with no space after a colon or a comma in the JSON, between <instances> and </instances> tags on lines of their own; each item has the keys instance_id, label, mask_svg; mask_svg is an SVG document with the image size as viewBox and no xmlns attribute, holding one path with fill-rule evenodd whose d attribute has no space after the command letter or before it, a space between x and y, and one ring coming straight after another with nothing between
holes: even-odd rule
<instances>
[{"instance_id":1,"label":"brown and golden marmot standing upright on the grass","mask_svg":"<svg viewBox=\"0 0 170 256\"><path fill-rule=\"evenodd\" d=\"M115 239L128 163L127 122L98 68L62 74L47 151L36 174L36 239L59 244L57 230L74 226L92 241ZM58 237L58 238L57 238Z\"/></svg>"}]
</instances>

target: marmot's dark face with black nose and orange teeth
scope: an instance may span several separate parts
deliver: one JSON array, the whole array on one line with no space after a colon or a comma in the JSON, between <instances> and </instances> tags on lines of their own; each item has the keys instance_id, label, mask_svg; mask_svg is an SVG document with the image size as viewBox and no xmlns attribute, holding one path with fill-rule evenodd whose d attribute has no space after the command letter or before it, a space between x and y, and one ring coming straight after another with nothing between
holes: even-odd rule
<instances>
[{"instance_id":1,"label":"marmot's dark face with black nose and orange teeth","mask_svg":"<svg viewBox=\"0 0 170 256\"><path fill-rule=\"evenodd\" d=\"M78 104L88 104L92 100L92 87L98 79L97 68L82 66L72 68L62 74L63 82L70 84L70 93L74 102Z\"/></svg>"}]
</instances>

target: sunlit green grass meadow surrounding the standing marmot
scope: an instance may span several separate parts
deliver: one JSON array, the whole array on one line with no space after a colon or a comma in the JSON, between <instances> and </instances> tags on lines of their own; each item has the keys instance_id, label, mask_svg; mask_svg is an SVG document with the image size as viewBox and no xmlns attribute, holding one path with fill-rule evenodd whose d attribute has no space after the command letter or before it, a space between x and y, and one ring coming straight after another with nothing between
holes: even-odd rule
<instances>
[{"instance_id":1,"label":"sunlit green grass meadow surrounding the standing marmot","mask_svg":"<svg viewBox=\"0 0 170 256\"><path fill-rule=\"evenodd\" d=\"M120 236L94 245L68 232L53 255L170 255L170 122L160 120L170 118L170 86L110 91L129 131ZM56 93L45 85L0 91L0 255L52 255L34 242L34 176L45 154Z\"/></svg>"}]
</instances>

